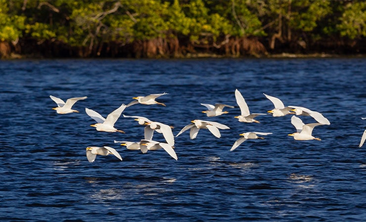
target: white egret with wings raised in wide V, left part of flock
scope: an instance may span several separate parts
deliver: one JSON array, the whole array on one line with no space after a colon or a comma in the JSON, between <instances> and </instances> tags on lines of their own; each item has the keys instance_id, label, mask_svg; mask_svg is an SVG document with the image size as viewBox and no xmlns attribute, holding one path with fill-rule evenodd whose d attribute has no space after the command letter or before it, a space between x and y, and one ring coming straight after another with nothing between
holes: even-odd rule
<instances>
[{"instance_id":1,"label":"white egret with wings raised in wide V, left part of flock","mask_svg":"<svg viewBox=\"0 0 366 222\"><path fill-rule=\"evenodd\" d=\"M125 109L126 105L122 104L117 110L109 113L106 119L99 113L91 109L85 108L85 111L92 119L94 119L97 122L91 125L95 127L97 131L125 133L123 130L118 130L114 128L114 124L116 123L117 119L121 116L121 113Z\"/></svg>"}]
</instances>

